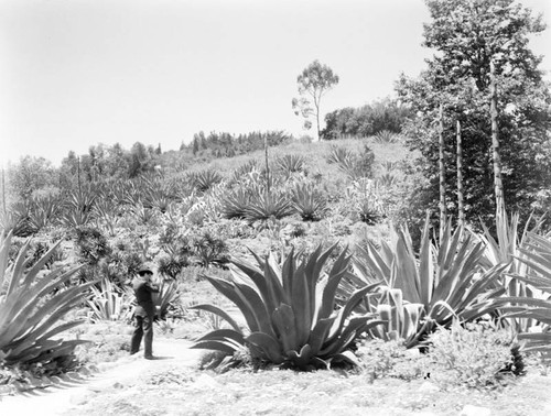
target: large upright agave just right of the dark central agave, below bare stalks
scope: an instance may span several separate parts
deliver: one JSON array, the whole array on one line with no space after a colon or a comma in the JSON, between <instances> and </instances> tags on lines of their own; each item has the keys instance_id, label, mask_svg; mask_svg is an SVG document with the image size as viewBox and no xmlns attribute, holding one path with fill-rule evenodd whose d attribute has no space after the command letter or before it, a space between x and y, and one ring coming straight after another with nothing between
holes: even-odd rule
<instances>
[{"instance_id":1,"label":"large upright agave just right of the dark central agave, below bare stalks","mask_svg":"<svg viewBox=\"0 0 551 416\"><path fill-rule=\"evenodd\" d=\"M506 265L485 271L480 266L483 243L474 243L461 227L452 232L451 221L443 229L440 244L432 241L429 231L426 218L419 255L407 228L398 230L393 248L382 242L378 249L367 241L357 248L356 274L366 282L381 281L389 288L400 289L408 303L423 305L431 325L423 324L419 328L422 331L430 331L433 324L449 327L454 318L472 321L494 314L505 293L496 282ZM418 339L422 339L422 333Z\"/></svg>"}]
</instances>

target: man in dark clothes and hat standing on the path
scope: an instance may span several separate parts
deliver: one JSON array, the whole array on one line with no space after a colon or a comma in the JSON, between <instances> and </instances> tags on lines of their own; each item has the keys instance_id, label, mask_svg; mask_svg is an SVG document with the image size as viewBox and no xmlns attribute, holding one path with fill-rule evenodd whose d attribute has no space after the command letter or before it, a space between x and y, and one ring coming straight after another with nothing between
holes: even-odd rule
<instances>
[{"instance_id":1,"label":"man in dark clothes and hat standing on the path","mask_svg":"<svg viewBox=\"0 0 551 416\"><path fill-rule=\"evenodd\" d=\"M153 360L153 318L155 306L151 294L159 292L156 285L151 284L153 272L151 267L143 264L138 269L138 275L132 281L136 295L134 331L130 342L130 354L136 354L140 350L142 337L144 338L144 357Z\"/></svg>"}]
</instances>

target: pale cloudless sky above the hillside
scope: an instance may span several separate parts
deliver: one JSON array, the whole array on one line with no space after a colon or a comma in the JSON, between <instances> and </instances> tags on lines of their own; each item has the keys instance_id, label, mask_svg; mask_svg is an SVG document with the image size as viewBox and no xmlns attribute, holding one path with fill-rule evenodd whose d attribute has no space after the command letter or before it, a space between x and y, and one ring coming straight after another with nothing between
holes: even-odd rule
<instances>
[{"instance_id":1,"label":"pale cloudless sky above the hillside","mask_svg":"<svg viewBox=\"0 0 551 416\"><path fill-rule=\"evenodd\" d=\"M551 1L522 3L551 26ZM424 68L428 21L423 0L0 0L0 165L98 143L177 150L201 130L300 135L304 67L341 77L323 113L392 95ZM551 51L551 28L532 48Z\"/></svg>"}]
</instances>

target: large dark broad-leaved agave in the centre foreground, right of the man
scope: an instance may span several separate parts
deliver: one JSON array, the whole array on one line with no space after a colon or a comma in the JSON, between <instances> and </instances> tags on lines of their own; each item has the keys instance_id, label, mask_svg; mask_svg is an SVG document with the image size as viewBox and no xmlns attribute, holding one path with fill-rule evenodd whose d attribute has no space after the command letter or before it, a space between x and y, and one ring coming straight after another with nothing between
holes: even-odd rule
<instances>
[{"instance_id":1,"label":"large dark broad-leaved agave in the centre foreground, right of the man","mask_svg":"<svg viewBox=\"0 0 551 416\"><path fill-rule=\"evenodd\" d=\"M195 308L212 311L229 322L231 329L217 329L199 338L193 346L227 355L247 349L252 359L266 363L312 370L333 363L356 364L349 348L371 327L381 325L374 314L354 314L366 295L378 284L355 291L336 308L337 287L348 273L350 256L342 251L327 273L323 272L335 245L318 247L301 258L291 251L281 262L270 254L266 260L252 253L256 265L231 261L233 277L205 276L242 313L247 328L214 305Z\"/></svg>"}]
</instances>

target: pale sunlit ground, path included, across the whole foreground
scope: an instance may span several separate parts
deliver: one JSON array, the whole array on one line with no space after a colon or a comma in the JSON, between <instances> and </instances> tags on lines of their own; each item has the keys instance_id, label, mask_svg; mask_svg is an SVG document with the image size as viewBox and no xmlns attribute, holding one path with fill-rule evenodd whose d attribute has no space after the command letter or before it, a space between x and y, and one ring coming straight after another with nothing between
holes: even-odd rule
<instances>
[{"instance_id":1,"label":"pale sunlit ground, path included, across the whole foreground","mask_svg":"<svg viewBox=\"0 0 551 416\"><path fill-rule=\"evenodd\" d=\"M86 374L14 396L0 415L415 415L548 416L551 376L529 373L503 390L441 391L430 380L368 380L318 371L198 371L204 351L155 338L158 360L125 357Z\"/></svg>"}]
</instances>

